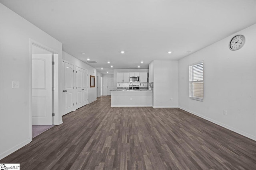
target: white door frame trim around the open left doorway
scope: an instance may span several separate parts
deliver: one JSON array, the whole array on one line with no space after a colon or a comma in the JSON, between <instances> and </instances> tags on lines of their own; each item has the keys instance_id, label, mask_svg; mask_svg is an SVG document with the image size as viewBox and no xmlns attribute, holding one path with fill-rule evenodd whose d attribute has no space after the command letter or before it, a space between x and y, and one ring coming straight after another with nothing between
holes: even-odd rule
<instances>
[{"instance_id":1,"label":"white door frame trim around the open left doorway","mask_svg":"<svg viewBox=\"0 0 256 170\"><path fill-rule=\"evenodd\" d=\"M53 124L60 125L62 123L62 118L59 113L59 64L60 64L60 54L50 49L49 47L38 43L32 39L29 39L29 133L30 133L30 141L32 141L32 45L45 49L54 54L53 61L53 113L55 113L53 117Z\"/></svg>"}]
</instances>

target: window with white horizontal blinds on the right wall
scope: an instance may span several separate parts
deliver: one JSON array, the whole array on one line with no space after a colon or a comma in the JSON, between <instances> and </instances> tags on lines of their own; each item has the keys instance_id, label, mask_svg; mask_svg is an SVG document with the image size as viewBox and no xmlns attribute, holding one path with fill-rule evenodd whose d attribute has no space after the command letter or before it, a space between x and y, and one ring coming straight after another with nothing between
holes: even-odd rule
<instances>
[{"instance_id":1,"label":"window with white horizontal blinds on the right wall","mask_svg":"<svg viewBox=\"0 0 256 170\"><path fill-rule=\"evenodd\" d=\"M203 61L189 66L189 98L204 100L204 63Z\"/></svg>"}]
</instances>

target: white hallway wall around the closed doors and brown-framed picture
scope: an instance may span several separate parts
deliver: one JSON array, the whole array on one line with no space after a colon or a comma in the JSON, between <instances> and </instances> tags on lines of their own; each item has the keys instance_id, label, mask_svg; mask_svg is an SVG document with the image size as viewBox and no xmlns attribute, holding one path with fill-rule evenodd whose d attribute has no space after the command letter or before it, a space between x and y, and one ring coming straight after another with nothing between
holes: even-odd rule
<instances>
[{"instance_id":1,"label":"white hallway wall around the closed doors and brown-framed picture","mask_svg":"<svg viewBox=\"0 0 256 170\"><path fill-rule=\"evenodd\" d=\"M65 51L62 51L62 59L64 61L68 61L69 63L74 64L74 69L76 66L83 68L85 70L88 70L88 104L91 102L94 102L97 100L97 81L95 81L95 87L90 88L90 76L95 76L97 75L97 70L96 68L93 68L92 66L89 66L88 64L82 62L81 60L78 60L77 58L73 57L72 55L66 53ZM62 78L64 78L64 72L62 72L61 75ZM64 82L62 80L61 82ZM62 84L62 88L64 89L64 83ZM64 96L62 94L62 106L64 105ZM63 106L64 107L64 106Z\"/></svg>"}]
</instances>

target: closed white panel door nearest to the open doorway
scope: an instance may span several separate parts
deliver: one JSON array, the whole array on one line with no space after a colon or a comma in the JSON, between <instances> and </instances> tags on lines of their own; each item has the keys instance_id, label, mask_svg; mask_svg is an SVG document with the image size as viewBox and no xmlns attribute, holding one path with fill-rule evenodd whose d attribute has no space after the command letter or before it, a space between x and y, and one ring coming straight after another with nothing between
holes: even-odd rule
<instances>
[{"instance_id":1,"label":"closed white panel door nearest to the open doorway","mask_svg":"<svg viewBox=\"0 0 256 170\"><path fill-rule=\"evenodd\" d=\"M74 66L64 62L64 115L74 110Z\"/></svg>"}]
</instances>

